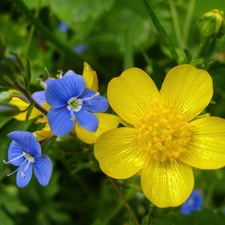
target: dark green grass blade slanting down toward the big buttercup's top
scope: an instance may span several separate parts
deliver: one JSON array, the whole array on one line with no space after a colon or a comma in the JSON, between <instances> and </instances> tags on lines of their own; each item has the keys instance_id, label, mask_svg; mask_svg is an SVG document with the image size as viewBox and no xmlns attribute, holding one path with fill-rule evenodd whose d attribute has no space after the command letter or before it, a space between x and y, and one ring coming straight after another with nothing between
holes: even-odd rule
<instances>
[{"instance_id":1,"label":"dark green grass blade slanting down toward the big buttercup's top","mask_svg":"<svg viewBox=\"0 0 225 225\"><path fill-rule=\"evenodd\" d=\"M143 1L144 1L144 3L145 3L145 6L146 6L146 9L147 9L147 11L148 11L148 14L149 14L150 18L151 18L151 20L152 20L152 22L153 22L153 24L154 24L156 30L157 30L158 33L159 33L159 37L161 38L161 41L163 42L163 44L165 44L165 45L168 47L168 49L169 49L169 51L170 51L170 53L171 53L173 59L174 59L176 62L178 62L178 55L177 55L177 52L176 52L176 50L175 50L173 44L171 43L169 37L167 36L167 34L166 34L164 28L163 28L162 25L160 24L160 22L159 22L157 16L155 15L154 11L152 10L151 6L147 3L146 0L143 0Z\"/></svg>"}]
</instances>

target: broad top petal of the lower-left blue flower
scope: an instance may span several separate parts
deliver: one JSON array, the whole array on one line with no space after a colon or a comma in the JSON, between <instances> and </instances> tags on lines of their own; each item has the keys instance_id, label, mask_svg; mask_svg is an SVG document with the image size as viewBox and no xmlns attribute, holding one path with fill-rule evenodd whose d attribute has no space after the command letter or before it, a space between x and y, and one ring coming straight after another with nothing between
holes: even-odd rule
<instances>
[{"instance_id":1,"label":"broad top petal of the lower-left blue flower","mask_svg":"<svg viewBox=\"0 0 225 225\"><path fill-rule=\"evenodd\" d=\"M21 147L22 151L33 157L41 156L41 146L32 133L28 131L13 131L8 134L8 137L14 140Z\"/></svg>"}]
</instances>

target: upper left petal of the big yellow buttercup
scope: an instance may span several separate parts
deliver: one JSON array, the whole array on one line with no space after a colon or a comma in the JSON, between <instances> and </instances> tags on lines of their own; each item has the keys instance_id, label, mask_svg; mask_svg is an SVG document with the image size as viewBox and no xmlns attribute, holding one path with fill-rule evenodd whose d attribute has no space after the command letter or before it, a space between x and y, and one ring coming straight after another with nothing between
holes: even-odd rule
<instances>
[{"instance_id":1,"label":"upper left petal of the big yellow buttercup","mask_svg":"<svg viewBox=\"0 0 225 225\"><path fill-rule=\"evenodd\" d=\"M146 108L158 100L159 92L147 73L139 68L125 70L108 85L108 99L113 110L133 124Z\"/></svg>"}]
</instances>

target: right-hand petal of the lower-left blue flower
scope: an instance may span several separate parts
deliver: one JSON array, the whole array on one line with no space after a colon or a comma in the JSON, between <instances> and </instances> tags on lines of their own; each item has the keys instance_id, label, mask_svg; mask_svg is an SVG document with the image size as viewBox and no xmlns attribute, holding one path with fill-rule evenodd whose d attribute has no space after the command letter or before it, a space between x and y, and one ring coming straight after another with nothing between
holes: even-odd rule
<instances>
[{"instance_id":1,"label":"right-hand petal of the lower-left blue flower","mask_svg":"<svg viewBox=\"0 0 225 225\"><path fill-rule=\"evenodd\" d=\"M35 158L34 174L42 186L48 185L52 175L52 161L47 155Z\"/></svg>"}]
</instances>

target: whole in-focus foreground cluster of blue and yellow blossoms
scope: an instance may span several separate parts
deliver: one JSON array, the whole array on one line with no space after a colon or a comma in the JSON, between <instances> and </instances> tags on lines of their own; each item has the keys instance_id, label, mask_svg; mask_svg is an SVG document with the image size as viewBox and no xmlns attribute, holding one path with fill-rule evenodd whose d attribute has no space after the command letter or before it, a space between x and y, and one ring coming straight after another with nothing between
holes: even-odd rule
<instances>
[{"instance_id":1,"label":"whole in-focus foreground cluster of blue and yellow blossoms","mask_svg":"<svg viewBox=\"0 0 225 225\"><path fill-rule=\"evenodd\" d=\"M86 63L83 76L70 70L41 84L45 90L32 96L47 110L47 115L38 119L46 123L45 127L34 134L9 134L13 142L5 163L19 166L19 187L30 181L32 168L41 185L49 182L52 163L41 154L36 138L73 133L86 143L95 143L94 155L109 177L126 179L140 173L144 195L158 207L181 205L190 196L194 187L192 167L224 166L225 121L198 116L213 93L212 79L204 70L188 64L176 66L160 91L143 70L125 70L110 81L107 91L119 117L103 113L108 100L97 91L96 73ZM10 103L15 104L15 97ZM21 101L17 105L24 104ZM41 113L32 111L30 118L37 115ZM117 128L119 121L125 126Z\"/></svg>"}]
</instances>

